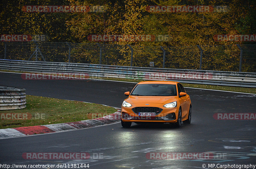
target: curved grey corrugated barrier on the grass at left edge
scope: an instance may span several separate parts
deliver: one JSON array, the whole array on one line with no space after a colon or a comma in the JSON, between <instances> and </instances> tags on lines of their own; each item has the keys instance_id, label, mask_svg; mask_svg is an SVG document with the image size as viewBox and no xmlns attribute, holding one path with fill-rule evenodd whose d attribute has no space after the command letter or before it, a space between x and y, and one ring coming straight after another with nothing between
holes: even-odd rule
<instances>
[{"instance_id":1,"label":"curved grey corrugated barrier on the grass at left edge","mask_svg":"<svg viewBox=\"0 0 256 169\"><path fill-rule=\"evenodd\" d=\"M26 107L26 89L0 85L0 110L15 110Z\"/></svg>"}]
</instances>

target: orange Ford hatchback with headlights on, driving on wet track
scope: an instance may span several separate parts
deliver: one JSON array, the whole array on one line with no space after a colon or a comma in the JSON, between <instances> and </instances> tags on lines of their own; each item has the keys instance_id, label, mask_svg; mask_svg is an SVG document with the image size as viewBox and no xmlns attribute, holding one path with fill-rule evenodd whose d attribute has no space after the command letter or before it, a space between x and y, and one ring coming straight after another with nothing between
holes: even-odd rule
<instances>
[{"instance_id":1,"label":"orange Ford hatchback with headlights on, driving on wet track","mask_svg":"<svg viewBox=\"0 0 256 169\"><path fill-rule=\"evenodd\" d=\"M138 83L122 104L122 126L132 122L191 123L191 100L179 82L147 81Z\"/></svg>"}]
</instances>

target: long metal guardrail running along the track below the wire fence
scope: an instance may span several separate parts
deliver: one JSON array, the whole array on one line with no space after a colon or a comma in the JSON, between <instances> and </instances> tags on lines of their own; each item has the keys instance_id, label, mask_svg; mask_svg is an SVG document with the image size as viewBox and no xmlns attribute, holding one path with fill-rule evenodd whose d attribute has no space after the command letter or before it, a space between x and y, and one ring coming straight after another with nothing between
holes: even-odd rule
<instances>
[{"instance_id":1,"label":"long metal guardrail running along the track below the wire fence","mask_svg":"<svg viewBox=\"0 0 256 169\"><path fill-rule=\"evenodd\" d=\"M87 73L90 77L171 80L182 83L256 87L256 73L212 70L142 68L83 63L33 62L0 59L0 69L40 73Z\"/></svg>"}]
</instances>

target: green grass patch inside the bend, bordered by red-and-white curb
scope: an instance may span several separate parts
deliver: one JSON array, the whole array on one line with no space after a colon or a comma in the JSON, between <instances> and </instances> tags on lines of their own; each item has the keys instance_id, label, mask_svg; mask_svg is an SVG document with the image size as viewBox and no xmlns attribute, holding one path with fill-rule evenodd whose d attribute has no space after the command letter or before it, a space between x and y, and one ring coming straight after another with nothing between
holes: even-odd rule
<instances>
[{"instance_id":1,"label":"green grass patch inside the bend, bordered by red-and-white curb","mask_svg":"<svg viewBox=\"0 0 256 169\"><path fill-rule=\"evenodd\" d=\"M24 109L0 111L0 129L89 120L92 117L97 117L95 114L99 114L99 117L101 117L101 114L106 115L116 112L113 107L94 103L31 95L27 95L26 100L27 107ZM12 117L12 120L7 120L4 118L10 116L6 116L6 114L3 116L3 113L27 113L28 117L27 120L13 120L14 117Z\"/></svg>"}]
</instances>

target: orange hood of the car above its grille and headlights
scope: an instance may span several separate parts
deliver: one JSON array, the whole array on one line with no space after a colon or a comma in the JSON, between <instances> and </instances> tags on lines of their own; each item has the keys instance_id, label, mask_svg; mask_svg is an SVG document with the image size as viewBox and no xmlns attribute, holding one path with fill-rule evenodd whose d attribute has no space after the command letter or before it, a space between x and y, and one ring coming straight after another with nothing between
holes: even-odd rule
<instances>
[{"instance_id":1,"label":"orange hood of the car above its grille and headlights","mask_svg":"<svg viewBox=\"0 0 256 169\"><path fill-rule=\"evenodd\" d=\"M129 96L125 99L128 103L160 103L167 104L177 101L178 96Z\"/></svg>"}]
</instances>

